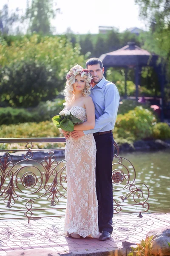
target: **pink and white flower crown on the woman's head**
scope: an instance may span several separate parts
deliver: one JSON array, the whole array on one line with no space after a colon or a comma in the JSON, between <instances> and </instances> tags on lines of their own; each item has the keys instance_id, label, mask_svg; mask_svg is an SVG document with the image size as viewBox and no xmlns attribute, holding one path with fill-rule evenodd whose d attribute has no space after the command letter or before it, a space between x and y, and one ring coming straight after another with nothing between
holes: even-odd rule
<instances>
[{"instance_id":1,"label":"pink and white flower crown on the woman's head","mask_svg":"<svg viewBox=\"0 0 170 256\"><path fill-rule=\"evenodd\" d=\"M93 82L91 73L87 69L82 68L78 64L71 68L71 70L67 73L66 79L69 80L71 76L77 76L77 75L80 75L81 77L86 78L89 84Z\"/></svg>"}]
</instances>

